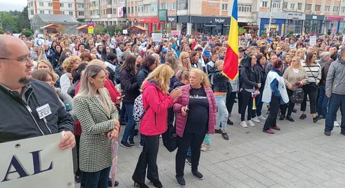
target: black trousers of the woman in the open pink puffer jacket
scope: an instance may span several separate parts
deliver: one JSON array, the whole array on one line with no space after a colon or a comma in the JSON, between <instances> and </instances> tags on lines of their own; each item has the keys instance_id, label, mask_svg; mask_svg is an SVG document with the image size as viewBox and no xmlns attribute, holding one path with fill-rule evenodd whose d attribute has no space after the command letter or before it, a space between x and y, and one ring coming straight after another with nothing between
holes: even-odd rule
<instances>
[{"instance_id":1,"label":"black trousers of the woman in the open pink puffer jacket","mask_svg":"<svg viewBox=\"0 0 345 188\"><path fill-rule=\"evenodd\" d=\"M186 164L186 156L188 147L192 150L192 171L197 171L200 160L201 144L204 141L206 133L188 133L184 132L184 136L181 138L177 136L177 144L179 148L176 153L176 175L184 176L184 164Z\"/></svg>"}]
</instances>

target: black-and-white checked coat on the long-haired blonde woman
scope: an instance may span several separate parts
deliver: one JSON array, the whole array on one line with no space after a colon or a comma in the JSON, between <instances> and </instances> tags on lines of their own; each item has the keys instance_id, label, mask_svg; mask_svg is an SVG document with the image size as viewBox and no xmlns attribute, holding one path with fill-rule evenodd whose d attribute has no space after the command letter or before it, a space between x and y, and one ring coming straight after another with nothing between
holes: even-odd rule
<instances>
[{"instance_id":1,"label":"black-and-white checked coat on the long-haired blonde woman","mask_svg":"<svg viewBox=\"0 0 345 188\"><path fill-rule=\"evenodd\" d=\"M105 89L105 88L104 88ZM111 113L106 113L99 97L75 97L75 115L81 124L79 147L79 167L81 171L95 172L111 167L112 141L108 131L115 129L113 119L119 119L119 113L112 104Z\"/></svg>"}]
</instances>

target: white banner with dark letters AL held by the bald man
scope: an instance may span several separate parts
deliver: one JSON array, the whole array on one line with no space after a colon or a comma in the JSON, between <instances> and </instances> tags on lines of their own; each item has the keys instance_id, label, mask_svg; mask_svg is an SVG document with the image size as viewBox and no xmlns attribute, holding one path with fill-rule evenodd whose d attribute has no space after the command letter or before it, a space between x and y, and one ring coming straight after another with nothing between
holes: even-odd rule
<instances>
[{"instance_id":1,"label":"white banner with dark letters AL held by the bald man","mask_svg":"<svg viewBox=\"0 0 345 188\"><path fill-rule=\"evenodd\" d=\"M63 133L0 144L0 187L74 188L72 149Z\"/></svg>"}]
</instances>

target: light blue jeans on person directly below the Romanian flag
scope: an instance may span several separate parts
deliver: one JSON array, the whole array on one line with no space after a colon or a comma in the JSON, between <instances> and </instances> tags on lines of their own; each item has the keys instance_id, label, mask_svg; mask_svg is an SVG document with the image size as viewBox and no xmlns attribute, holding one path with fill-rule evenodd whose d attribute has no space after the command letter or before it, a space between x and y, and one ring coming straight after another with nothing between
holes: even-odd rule
<instances>
[{"instance_id":1,"label":"light blue jeans on person directly below the Romanian flag","mask_svg":"<svg viewBox=\"0 0 345 188\"><path fill-rule=\"evenodd\" d=\"M221 129L226 130L226 124L228 121L228 110L226 109L226 94L224 95L215 95L215 100L217 103L217 123L216 128L219 129L221 124Z\"/></svg>"}]
</instances>

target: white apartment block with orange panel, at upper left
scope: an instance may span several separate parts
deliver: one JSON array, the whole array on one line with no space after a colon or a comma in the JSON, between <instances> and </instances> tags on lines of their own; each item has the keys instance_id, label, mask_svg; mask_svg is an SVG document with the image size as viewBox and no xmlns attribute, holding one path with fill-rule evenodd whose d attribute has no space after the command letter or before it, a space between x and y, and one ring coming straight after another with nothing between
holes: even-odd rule
<instances>
[{"instance_id":1,"label":"white apartment block with orange panel, at upper left","mask_svg":"<svg viewBox=\"0 0 345 188\"><path fill-rule=\"evenodd\" d=\"M70 15L84 19L84 0L28 0L28 15L32 20L36 14Z\"/></svg>"}]
</instances>

